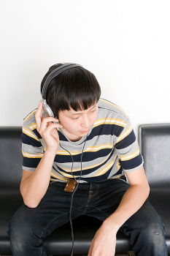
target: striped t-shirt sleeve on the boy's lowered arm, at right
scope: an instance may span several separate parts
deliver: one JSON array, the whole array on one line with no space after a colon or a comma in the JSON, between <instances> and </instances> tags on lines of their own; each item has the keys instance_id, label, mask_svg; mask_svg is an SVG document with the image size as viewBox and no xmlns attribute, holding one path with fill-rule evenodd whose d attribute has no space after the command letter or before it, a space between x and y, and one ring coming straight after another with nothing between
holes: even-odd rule
<instances>
[{"instance_id":1,"label":"striped t-shirt sleeve on the boy's lowered arm, at right","mask_svg":"<svg viewBox=\"0 0 170 256\"><path fill-rule=\"evenodd\" d=\"M129 117L127 117L125 127L117 137L115 152L124 171L136 170L144 164L144 159L139 151L139 143L136 140Z\"/></svg>"}]
</instances>

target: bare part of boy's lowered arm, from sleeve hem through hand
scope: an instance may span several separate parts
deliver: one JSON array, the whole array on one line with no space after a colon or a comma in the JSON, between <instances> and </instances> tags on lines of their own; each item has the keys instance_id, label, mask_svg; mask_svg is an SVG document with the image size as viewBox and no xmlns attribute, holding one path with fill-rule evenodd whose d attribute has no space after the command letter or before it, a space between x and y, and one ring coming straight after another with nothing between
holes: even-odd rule
<instances>
[{"instance_id":1,"label":"bare part of boy's lowered arm, from sleeve hem through hand","mask_svg":"<svg viewBox=\"0 0 170 256\"><path fill-rule=\"evenodd\" d=\"M150 187L144 172L144 167L126 172L130 187L120 201L116 211L104 220L88 251L88 256L115 255L117 230L123 223L141 208L150 193Z\"/></svg>"}]
</instances>

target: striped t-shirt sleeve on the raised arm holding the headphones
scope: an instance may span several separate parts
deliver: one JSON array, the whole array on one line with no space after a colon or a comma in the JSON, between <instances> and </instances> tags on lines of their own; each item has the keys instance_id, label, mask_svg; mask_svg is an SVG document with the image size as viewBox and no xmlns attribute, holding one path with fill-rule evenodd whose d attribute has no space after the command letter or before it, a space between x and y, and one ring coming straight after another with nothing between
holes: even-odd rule
<instances>
[{"instance_id":1,"label":"striped t-shirt sleeve on the raised arm holding the headphones","mask_svg":"<svg viewBox=\"0 0 170 256\"><path fill-rule=\"evenodd\" d=\"M26 122L23 121L22 128L22 154L23 154L23 170L36 170L42 159L44 148L39 138L34 134L33 130Z\"/></svg>"}]
</instances>

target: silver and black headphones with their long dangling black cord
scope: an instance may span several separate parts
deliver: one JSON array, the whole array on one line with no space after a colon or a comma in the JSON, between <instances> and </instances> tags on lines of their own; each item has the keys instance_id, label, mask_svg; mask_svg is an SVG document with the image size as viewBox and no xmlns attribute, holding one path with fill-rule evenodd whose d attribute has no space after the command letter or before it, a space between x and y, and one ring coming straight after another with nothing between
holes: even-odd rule
<instances>
[{"instance_id":1,"label":"silver and black headphones with their long dangling black cord","mask_svg":"<svg viewBox=\"0 0 170 256\"><path fill-rule=\"evenodd\" d=\"M57 67L57 68L53 69L50 72L50 74L47 76L47 78L45 80L45 83L44 83L44 85L42 87L42 99L41 99L42 105L43 105L43 110L45 110L45 113L47 113L47 116L55 117L54 114L53 114L53 111L51 110L50 106L47 105L47 101L46 101L47 88L48 88L51 80L53 80L53 78L56 78L57 75L61 74L65 70L72 69L73 67L82 67L82 66L80 64L74 64L74 63L63 63L60 67ZM87 138L87 136L86 136L86 138ZM85 138L85 141L86 141L86 138ZM61 144L60 144L60 146L61 146ZM82 148L82 153L83 153L84 147L85 147L85 143L84 143L84 146ZM61 146L61 148L63 148L63 147ZM66 150L66 148L63 148L63 149ZM66 151L69 152L68 150L66 150ZM69 154L70 154L70 152L69 152ZM72 154L70 154L70 155L72 157ZM73 157L72 157L72 167L73 167L73 162L74 161L73 161ZM71 173L72 173L72 170L71 170ZM73 174L72 174L72 176L74 177ZM81 176L82 176L82 154L81 154L81 173L80 173L80 178L81 178ZM77 183L77 187L78 187L78 184L80 182L80 178L79 178L79 181ZM77 191L77 187L74 189L74 192ZM73 200L74 192L72 193L72 200ZM72 228L72 217L71 217L71 214L72 214L72 200L71 200L70 214L69 214L69 220L70 220L71 228ZM73 234L73 230L72 230L72 252L71 252L71 256L73 256L73 249L74 249L74 234Z\"/></svg>"}]
</instances>

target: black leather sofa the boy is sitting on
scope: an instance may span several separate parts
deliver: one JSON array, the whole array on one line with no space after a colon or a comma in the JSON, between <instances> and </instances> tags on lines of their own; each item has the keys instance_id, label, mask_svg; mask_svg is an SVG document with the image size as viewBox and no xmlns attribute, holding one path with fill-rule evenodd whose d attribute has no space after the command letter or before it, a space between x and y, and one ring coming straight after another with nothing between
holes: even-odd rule
<instances>
[{"instance_id":1,"label":"black leather sofa the boy is sitting on","mask_svg":"<svg viewBox=\"0 0 170 256\"><path fill-rule=\"evenodd\" d=\"M23 203L19 191L22 176L22 127L0 127L0 255L11 255L7 223ZM150 202L163 219L170 253L170 124L139 126L139 146L144 157L144 170L150 184ZM74 255L87 255L90 241L101 225L92 217L72 220ZM70 224L58 227L45 240L48 255L70 255L72 235ZM117 233L116 253L131 251L129 237ZM130 255L130 254L129 254Z\"/></svg>"}]
</instances>

